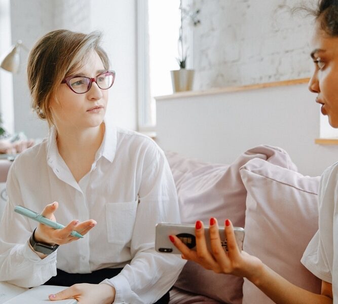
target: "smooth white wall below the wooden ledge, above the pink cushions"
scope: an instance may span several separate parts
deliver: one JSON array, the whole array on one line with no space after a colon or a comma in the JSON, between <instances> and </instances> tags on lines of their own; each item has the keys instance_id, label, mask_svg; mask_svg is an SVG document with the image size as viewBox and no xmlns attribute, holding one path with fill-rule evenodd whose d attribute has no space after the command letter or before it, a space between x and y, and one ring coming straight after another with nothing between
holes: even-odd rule
<instances>
[{"instance_id":1,"label":"smooth white wall below the wooden ledge, above the pink cushions","mask_svg":"<svg viewBox=\"0 0 338 304\"><path fill-rule=\"evenodd\" d=\"M164 150L230 164L249 148L274 145L310 176L338 160L338 146L315 144L318 104L306 84L158 99L156 140Z\"/></svg>"}]
</instances>

